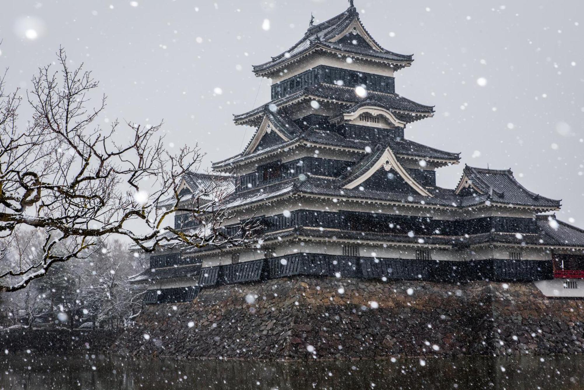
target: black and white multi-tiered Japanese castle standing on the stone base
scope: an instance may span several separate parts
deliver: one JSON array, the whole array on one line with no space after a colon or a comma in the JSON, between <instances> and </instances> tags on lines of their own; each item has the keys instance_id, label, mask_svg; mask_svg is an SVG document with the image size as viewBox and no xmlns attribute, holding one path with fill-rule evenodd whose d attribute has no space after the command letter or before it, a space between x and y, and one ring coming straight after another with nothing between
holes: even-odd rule
<instances>
[{"instance_id":1,"label":"black and white multi-tiered Japanese castle standing on the stone base","mask_svg":"<svg viewBox=\"0 0 584 390\"><path fill-rule=\"evenodd\" d=\"M131 278L145 303L193 301L201 288L311 276L379 280L533 281L550 297L584 297L584 231L555 219L559 200L509 169L465 166L454 189L436 170L460 154L408 140L433 106L395 91L412 55L381 47L350 1L286 52L253 67L271 100L234 117L255 128L240 154L183 178L183 204L220 182L228 234L253 218L251 246L173 247ZM175 227L197 228L192 213Z\"/></svg>"}]
</instances>

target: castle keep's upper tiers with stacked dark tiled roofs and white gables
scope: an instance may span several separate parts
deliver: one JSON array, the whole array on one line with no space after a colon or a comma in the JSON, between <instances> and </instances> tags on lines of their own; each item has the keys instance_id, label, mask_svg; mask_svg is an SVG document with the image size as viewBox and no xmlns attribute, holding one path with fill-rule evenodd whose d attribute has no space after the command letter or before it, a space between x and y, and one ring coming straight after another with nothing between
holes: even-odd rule
<instances>
[{"instance_id":1,"label":"castle keep's upper tiers with stacked dark tiled roofs and white gables","mask_svg":"<svg viewBox=\"0 0 584 390\"><path fill-rule=\"evenodd\" d=\"M322 65L330 63L331 54L338 58L337 66L343 68ZM307 65L303 66L301 61L315 66L306 69ZM377 69L379 73L352 71L343 62L357 64L356 68ZM424 199L427 206L454 208L496 202L530 206L539 211L557 210L559 201L527 191L510 170L468 167L457 190L436 186L434 169L457 164L460 154L405 137L406 125L433 116L433 106L413 102L395 93L394 78L384 76L381 71L390 69L393 74L409 67L412 62L412 55L397 54L381 47L364 28L356 8L350 6L340 15L310 26L303 39L286 52L253 67L256 75L273 77L277 81L272 85L275 98L235 116L236 124L258 129L244 151L215 162L215 171L237 172L239 168L262 165L280 159L282 155L296 152L300 155L301 149L307 148L336 151L339 152L336 158L354 163L319 175L308 172L312 175L301 182L294 180L301 173L284 175L282 179L288 180L276 180L277 184L270 183L268 187L261 185L266 181L261 178L251 185L246 180L242 184L241 176L244 175L241 175L236 192L230 197L232 204L242 206L258 198L266 200L284 194L314 193L416 205ZM307 74L310 74L310 79ZM371 85L373 83L375 85ZM284 85L288 86L285 90L281 88ZM370 120L370 123L363 119ZM380 123L385 126L378 126ZM370 124L376 127L367 126ZM398 180L409 185L398 191L358 186L382 166L387 172L396 172ZM311 176L318 177L312 179ZM477 182L472 187L474 193L461 191L465 184L474 181Z\"/></svg>"}]
</instances>

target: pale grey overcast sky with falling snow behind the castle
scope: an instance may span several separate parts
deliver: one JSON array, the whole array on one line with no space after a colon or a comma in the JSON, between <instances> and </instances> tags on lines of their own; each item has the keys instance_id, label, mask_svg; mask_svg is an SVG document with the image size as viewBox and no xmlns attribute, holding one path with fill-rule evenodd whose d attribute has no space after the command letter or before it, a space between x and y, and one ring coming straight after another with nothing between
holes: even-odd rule
<instances>
[{"instance_id":1,"label":"pale grey overcast sky with falling snow behind the castle","mask_svg":"<svg viewBox=\"0 0 584 390\"><path fill-rule=\"evenodd\" d=\"M464 163L512 168L527 189L563 199L559 218L584 227L583 1L355 5L382 46L414 54L396 74L397 92L436 106L406 137L462 152L460 165L438 171L440 186L454 187ZM30 87L62 45L109 96L102 121L164 119L169 147L198 142L208 166L252 135L232 114L269 100L269 81L251 65L296 43L311 11L319 22L345 8L345 0L4 0L0 68L9 68L9 89Z\"/></svg>"}]
</instances>

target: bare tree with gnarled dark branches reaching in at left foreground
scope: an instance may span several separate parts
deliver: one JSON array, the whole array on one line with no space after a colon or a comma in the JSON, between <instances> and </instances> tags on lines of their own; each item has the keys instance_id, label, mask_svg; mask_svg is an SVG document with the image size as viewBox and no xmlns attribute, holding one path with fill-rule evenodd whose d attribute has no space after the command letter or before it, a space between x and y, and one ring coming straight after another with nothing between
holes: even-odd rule
<instances>
[{"instance_id":1,"label":"bare tree with gnarled dark branches reaching in at left foreground","mask_svg":"<svg viewBox=\"0 0 584 390\"><path fill-rule=\"evenodd\" d=\"M98 81L83 65L70 64L60 48L58 71L48 65L33 77L26 93L33 114L23 129L18 113L24 96L6 93L0 77L0 291L20 290L53 264L88 256L109 235L126 236L148 252L161 245L245 242L220 228L227 218L221 191L207 191L212 200L199 202L197 194L187 205L180 202L181 177L198 168L199 150L169 154L157 135L162 123L122 126L116 120L102 128L96 119L106 96L90 107ZM203 223L196 229L165 226L179 210ZM139 228L128 227L136 222ZM13 250L23 228L43 234L39 260Z\"/></svg>"}]
</instances>

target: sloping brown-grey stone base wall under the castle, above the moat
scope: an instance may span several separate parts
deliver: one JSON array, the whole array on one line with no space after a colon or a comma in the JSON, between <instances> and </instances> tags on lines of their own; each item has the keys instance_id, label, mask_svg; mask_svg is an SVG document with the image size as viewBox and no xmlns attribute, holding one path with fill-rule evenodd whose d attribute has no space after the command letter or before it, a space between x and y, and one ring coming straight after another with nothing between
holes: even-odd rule
<instances>
[{"instance_id":1,"label":"sloping brown-grey stone base wall under the castle, above the moat","mask_svg":"<svg viewBox=\"0 0 584 390\"><path fill-rule=\"evenodd\" d=\"M283 278L148 305L121 352L197 358L584 353L584 301L533 283Z\"/></svg>"}]
</instances>

